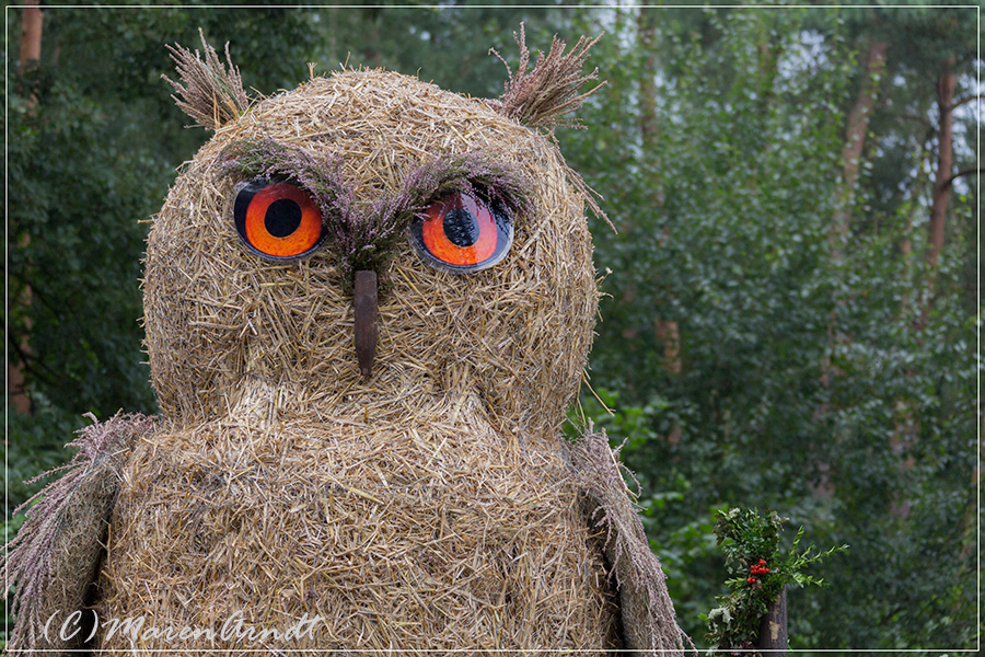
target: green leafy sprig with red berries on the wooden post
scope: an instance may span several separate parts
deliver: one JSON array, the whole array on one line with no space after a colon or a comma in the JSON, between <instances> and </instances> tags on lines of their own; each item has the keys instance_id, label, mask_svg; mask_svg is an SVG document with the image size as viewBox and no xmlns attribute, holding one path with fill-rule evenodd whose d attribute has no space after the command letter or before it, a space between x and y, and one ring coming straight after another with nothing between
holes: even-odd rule
<instances>
[{"instance_id":1,"label":"green leafy sprig with red berries on the wooden post","mask_svg":"<svg viewBox=\"0 0 985 657\"><path fill-rule=\"evenodd\" d=\"M776 511L761 517L755 509L732 508L719 511L715 535L726 554L726 565L735 577L726 580L732 589L728 596L719 596L721 603L702 618L708 623L706 635L712 649L750 649L757 647L760 624L787 586L824 586L825 581L803 569L825 557L848 549L832 548L811 554L811 545L798 551L803 528L797 531L789 550L780 552L779 539L783 525L789 518L780 518Z\"/></svg>"}]
</instances>

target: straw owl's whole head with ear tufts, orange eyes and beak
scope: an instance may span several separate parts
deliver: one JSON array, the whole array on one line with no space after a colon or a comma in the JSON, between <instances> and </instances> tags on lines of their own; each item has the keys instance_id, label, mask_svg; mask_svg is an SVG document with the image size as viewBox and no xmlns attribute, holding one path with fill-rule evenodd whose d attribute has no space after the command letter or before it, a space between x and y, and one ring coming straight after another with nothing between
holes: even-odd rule
<instances>
[{"instance_id":1,"label":"straw owl's whole head with ear tufts, orange eyes and beak","mask_svg":"<svg viewBox=\"0 0 985 657\"><path fill-rule=\"evenodd\" d=\"M228 46L225 65L204 39L204 59L173 50L178 105L215 135L148 238L165 417L247 400L398 414L457 394L505 430L560 424L591 345L598 206L551 130L591 93L594 42L555 39L530 71L518 43L498 101L351 69L248 99Z\"/></svg>"}]
</instances>

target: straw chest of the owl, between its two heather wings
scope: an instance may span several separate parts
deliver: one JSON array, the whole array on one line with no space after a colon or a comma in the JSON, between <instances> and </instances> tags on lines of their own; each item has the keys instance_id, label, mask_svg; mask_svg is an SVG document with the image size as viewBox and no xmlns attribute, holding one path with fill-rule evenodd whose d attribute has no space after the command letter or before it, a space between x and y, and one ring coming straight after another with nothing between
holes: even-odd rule
<instances>
[{"instance_id":1,"label":"straw chest of the owl, between its two heather wings","mask_svg":"<svg viewBox=\"0 0 985 657\"><path fill-rule=\"evenodd\" d=\"M113 518L105 613L268 630L317 619L289 648L564 647L606 634L601 554L563 471L368 447L344 463L290 450L276 466L276 454L138 454Z\"/></svg>"}]
</instances>

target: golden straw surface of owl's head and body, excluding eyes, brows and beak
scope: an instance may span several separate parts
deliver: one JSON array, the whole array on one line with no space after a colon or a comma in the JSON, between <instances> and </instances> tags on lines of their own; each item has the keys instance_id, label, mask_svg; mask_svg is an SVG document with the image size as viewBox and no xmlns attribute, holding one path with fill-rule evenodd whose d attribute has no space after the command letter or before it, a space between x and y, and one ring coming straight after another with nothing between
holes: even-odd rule
<instances>
[{"instance_id":1,"label":"golden straw surface of owl's head and body, excluding eyes, brows and beak","mask_svg":"<svg viewBox=\"0 0 985 657\"><path fill-rule=\"evenodd\" d=\"M658 631L622 627L611 527L587 518L588 461L561 438L598 291L586 196L549 135L380 70L313 78L215 127L148 240L162 413L123 469L96 607L159 632L104 629L99 645L607 654L645 635L636 647L681 649L669 599L635 612ZM243 143L325 163L356 218L421 168L495 161L522 183L512 247L455 275L401 229L372 257L379 344L364 378L345 240L287 263L243 247L230 217ZM631 511L625 495L612 505ZM659 566L646 576L665 598ZM236 618L225 637L162 636ZM304 631L303 618L318 620Z\"/></svg>"}]
</instances>

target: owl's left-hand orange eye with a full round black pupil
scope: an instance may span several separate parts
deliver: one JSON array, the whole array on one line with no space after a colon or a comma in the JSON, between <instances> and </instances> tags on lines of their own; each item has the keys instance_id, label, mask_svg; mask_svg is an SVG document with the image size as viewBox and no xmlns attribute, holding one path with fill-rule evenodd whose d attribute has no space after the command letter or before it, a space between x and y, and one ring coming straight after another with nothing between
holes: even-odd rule
<instances>
[{"instance_id":1,"label":"owl's left-hand orange eye with a full round black pupil","mask_svg":"<svg viewBox=\"0 0 985 657\"><path fill-rule=\"evenodd\" d=\"M246 246L268 260L294 260L322 242L322 214L312 195L264 178L236 185L233 218Z\"/></svg>"}]
</instances>

